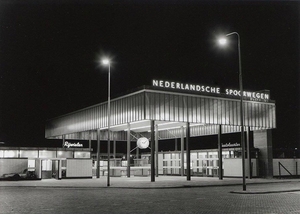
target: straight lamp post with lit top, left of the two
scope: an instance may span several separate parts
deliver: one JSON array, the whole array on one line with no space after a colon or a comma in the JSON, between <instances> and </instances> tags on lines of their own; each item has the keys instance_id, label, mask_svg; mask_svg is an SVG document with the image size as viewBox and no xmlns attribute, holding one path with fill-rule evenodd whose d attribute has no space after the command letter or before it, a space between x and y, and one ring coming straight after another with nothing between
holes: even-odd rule
<instances>
[{"instance_id":1,"label":"straight lamp post with lit top, left of the two","mask_svg":"<svg viewBox=\"0 0 300 214\"><path fill-rule=\"evenodd\" d=\"M107 186L110 186L110 60L103 59L102 64L108 66L108 95L107 95Z\"/></svg>"}]
</instances>

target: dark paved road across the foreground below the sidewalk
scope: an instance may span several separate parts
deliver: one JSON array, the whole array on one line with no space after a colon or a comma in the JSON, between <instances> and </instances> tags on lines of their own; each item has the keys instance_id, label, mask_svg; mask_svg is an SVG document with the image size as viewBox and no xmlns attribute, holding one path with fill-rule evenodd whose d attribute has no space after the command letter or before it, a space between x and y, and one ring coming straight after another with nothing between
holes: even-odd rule
<instances>
[{"instance_id":1,"label":"dark paved road across the foreground below the sidewalk","mask_svg":"<svg viewBox=\"0 0 300 214\"><path fill-rule=\"evenodd\" d=\"M240 188L0 187L0 213L300 213L300 191L231 193Z\"/></svg>"}]
</instances>

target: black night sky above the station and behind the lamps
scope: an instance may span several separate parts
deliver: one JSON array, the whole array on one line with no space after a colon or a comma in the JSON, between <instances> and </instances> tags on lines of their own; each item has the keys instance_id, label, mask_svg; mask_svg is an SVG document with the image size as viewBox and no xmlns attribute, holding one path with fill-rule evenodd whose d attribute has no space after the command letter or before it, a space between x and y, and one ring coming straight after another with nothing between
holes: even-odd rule
<instances>
[{"instance_id":1,"label":"black night sky above the station and behind the lamps","mask_svg":"<svg viewBox=\"0 0 300 214\"><path fill-rule=\"evenodd\" d=\"M300 146L297 1L0 1L0 141L47 146L44 125L152 79L238 89L241 36L244 89L269 89L277 106L274 146ZM140 3L144 2L144 3ZM150 3L151 2L151 3Z\"/></svg>"}]
</instances>

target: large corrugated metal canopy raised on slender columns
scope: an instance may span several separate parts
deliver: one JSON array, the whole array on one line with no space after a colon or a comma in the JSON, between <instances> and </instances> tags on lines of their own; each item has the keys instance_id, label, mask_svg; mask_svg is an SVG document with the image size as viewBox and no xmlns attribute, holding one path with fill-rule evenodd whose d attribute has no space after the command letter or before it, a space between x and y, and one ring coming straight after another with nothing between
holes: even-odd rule
<instances>
[{"instance_id":1,"label":"large corrugated metal canopy raised on slender columns","mask_svg":"<svg viewBox=\"0 0 300 214\"><path fill-rule=\"evenodd\" d=\"M191 94L143 88L111 100L111 131L117 140L126 140L126 129L147 135L155 120L160 137L177 137L180 127L191 123L191 136L240 131L240 99L225 95ZM100 129L107 135L107 102L72 112L46 123L46 138L96 139ZM276 128L274 101L244 100L244 125L252 130ZM179 135L180 136L180 135Z\"/></svg>"}]
</instances>

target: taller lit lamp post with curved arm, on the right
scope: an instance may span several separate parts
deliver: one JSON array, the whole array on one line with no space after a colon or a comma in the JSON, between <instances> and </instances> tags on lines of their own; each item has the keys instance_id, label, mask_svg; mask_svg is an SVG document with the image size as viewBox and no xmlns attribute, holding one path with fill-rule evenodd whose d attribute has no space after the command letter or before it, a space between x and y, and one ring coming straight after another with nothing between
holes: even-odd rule
<instances>
[{"instance_id":1,"label":"taller lit lamp post with curved arm, on the right","mask_svg":"<svg viewBox=\"0 0 300 214\"><path fill-rule=\"evenodd\" d=\"M242 144L242 172L243 172L243 191L246 191L246 176L245 176L245 140L244 140L244 111L243 111L243 76L242 76L242 63L241 63L241 45L240 35L237 32L226 34L219 39L220 45L226 45L226 37L236 35L238 39L238 53L239 53L239 85L240 85L240 119L241 119L241 144ZM248 151L249 152L249 151ZM248 156L250 156L248 154Z\"/></svg>"}]
</instances>

